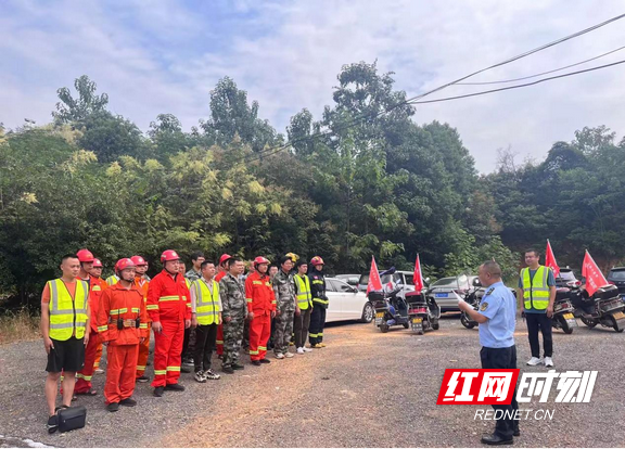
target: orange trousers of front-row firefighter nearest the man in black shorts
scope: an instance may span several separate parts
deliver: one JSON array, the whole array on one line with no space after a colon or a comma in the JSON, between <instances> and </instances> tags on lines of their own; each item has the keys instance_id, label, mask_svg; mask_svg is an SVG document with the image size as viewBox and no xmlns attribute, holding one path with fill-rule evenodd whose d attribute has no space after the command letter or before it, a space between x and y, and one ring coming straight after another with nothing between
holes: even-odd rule
<instances>
[{"instance_id":1,"label":"orange trousers of front-row firefighter nearest the man in black shorts","mask_svg":"<svg viewBox=\"0 0 625 449\"><path fill-rule=\"evenodd\" d=\"M106 403L128 399L135 392L135 370L139 345L109 345L106 348Z\"/></svg>"}]
</instances>

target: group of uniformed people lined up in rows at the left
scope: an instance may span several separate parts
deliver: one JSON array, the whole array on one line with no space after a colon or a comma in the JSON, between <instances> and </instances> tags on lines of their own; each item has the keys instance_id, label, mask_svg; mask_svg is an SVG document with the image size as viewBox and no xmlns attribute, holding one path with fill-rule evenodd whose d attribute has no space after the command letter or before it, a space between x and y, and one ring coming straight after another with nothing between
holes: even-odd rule
<instances>
[{"instance_id":1,"label":"group of uniformed people lined up in rows at the left","mask_svg":"<svg viewBox=\"0 0 625 449\"><path fill-rule=\"evenodd\" d=\"M200 383L220 379L212 368L214 350L224 373L244 369L240 363L244 336L256 367L270 362L270 337L279 360L294 357L289 351L292 337L296 354L326 346L328 297L321 257L307 264L289 253L270 269L270 261L259 256L246 275L243 260L228 254L216 266L194 253L193 268L187 272L175 251L163 252L161 262L163 270L150 279L143 257L123 258L104 281L101 261L88 249L62 258L62 277L49 281L41 295L50 433L58 428L58 410L68 408L74 394L98 394L91 379L102 345L107 347L107 410L137 405L136 382L149 381L150 329L154 333L151 385L156 397L166 390L184 390L178 380L192 332L194 379ZM63 400L56 407L60 379Z\"/></svg>"}]
</instances>

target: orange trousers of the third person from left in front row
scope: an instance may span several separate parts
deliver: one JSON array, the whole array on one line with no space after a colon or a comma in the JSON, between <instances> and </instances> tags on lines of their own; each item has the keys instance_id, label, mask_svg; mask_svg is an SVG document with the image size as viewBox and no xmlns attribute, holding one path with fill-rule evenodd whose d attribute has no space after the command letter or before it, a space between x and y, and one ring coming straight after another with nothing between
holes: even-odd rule
<instances>
[{"instance_id":1,"label":"orange trousers of the third person from left in front row","mask_svg":"<svg viewBox=\"0 0 625 449\"><path fill-rule=\"evenodd\" d=\"M154 332L154 380L153 387L178 383L180 355L184 339L184 321L161 321L163 332ZM135 359L137 361L137 359ZM137 364L135 364L137 368Z\"/></svg>"}]
</instances>

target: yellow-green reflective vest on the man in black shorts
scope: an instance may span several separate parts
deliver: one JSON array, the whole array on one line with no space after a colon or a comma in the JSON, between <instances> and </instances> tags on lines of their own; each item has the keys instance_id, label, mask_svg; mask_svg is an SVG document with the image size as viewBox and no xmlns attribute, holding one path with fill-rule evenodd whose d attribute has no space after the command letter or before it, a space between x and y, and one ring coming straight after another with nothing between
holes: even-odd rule
<instances>
[{"instance_id":1,"label":"yellow-green reflective vest on the man in black shorts","mask_svg":"<svg viewBox=\"0 0 625 449\"><path fill-rule=\"evenodd\" d=\"M48 282L50 288L50 338L66 341L75 335L76 338L85 336L87 324L87 304L89 304L89 285L77 280L74 298L69 295L62 279Z\"/></svg>"}]
</instances>

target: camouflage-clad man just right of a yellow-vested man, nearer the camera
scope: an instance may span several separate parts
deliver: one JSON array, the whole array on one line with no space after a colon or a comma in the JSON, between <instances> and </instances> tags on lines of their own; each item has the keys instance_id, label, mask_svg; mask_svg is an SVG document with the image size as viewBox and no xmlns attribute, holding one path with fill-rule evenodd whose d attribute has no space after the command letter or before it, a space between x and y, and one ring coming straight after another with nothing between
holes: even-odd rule
<instances>
[{"instance_id":1,"label":"camouflage-clad man just right of a yellow-vested man, nearer the camera","mask_svg":"<svg viewBox=\"0 0 625 449\"><path fill-rule=\"evenodd\" d=\"M230 269L219 281L219 296L224 310L224 359L221 371L233 374L234 370L243 370L239 363L239 350L243 341L243 325L247 317L247 302L245 300L245 286L239 280L245 268L243 261L233 257L230 259Z\"/></svg>"}]
</instances>

